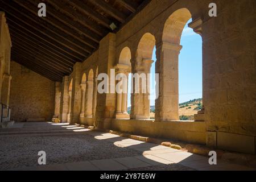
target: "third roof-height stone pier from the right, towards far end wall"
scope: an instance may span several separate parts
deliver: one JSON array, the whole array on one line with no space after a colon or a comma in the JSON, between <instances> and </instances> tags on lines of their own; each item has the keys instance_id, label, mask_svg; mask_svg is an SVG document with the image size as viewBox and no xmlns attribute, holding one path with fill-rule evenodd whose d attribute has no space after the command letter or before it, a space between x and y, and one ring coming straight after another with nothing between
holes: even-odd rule
<instances>
[{"instance_id":1,"label":"third roof-height stone pier from the right, towards far end wall","mask_svg":"<svg viewBox=\"0 0 256 182\"><path fill-rule=\"evenodd\" d=\"M68 76L63 77L61 84L61 98L60 98L60 121L63 123L68 122L68 104L69 104L69 87Z\"/></svg>"}]
</instances>

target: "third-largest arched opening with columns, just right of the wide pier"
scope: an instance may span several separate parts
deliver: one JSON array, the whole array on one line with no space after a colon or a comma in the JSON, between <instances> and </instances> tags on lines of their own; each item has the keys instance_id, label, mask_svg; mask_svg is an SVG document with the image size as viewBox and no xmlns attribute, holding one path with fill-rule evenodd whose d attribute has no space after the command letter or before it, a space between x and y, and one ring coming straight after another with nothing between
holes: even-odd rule
<instances>
[{"instance_id":1,"label":"third-largest arched opening with columns, just right of the wide pier","mask_svg":"<svg viewBox=\"0 0 256 182\"><path fill-rule=\"evenodd\" d=\"M130 92L129 92L129 75L131 73L131 51L129 47L122 49L118 64L116 66L117 72L121 75L122 78L118 82L122 84L122 93L117 93L117 103L116 103L116 117L119 119L129 119L130 111L128 113L128 102L130 104Z\"/></svg>"}]
</instances>

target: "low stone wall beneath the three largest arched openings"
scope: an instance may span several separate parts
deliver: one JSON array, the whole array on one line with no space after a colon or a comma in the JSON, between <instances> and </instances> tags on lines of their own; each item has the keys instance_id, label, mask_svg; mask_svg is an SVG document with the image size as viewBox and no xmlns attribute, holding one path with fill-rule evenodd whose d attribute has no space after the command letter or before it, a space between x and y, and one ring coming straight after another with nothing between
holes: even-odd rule
<instances>
[{"instance_id":1,"label":"low stone wall beneath the three largest arched openings","mask_svg":"<svg viewBox=\"0 0 256 182\"><path fill-rule=\"evenodd\" d=\"M154 122L151 120L113 119L110 127L112 130L124 133L170 138L197 144L205 144L206 138L205 122Z\"/></svg>"}]
</instances>

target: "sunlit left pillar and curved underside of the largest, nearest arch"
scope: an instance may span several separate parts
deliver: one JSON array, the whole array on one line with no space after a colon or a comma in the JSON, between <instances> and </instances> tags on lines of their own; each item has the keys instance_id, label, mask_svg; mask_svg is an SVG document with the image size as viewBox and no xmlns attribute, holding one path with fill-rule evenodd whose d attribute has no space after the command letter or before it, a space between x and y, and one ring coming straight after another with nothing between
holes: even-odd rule
<instances>
[{"instance_id":1,"label":"sunlit left pillar and curved underside of the largest, nearest arch","mask_svg":"<svg viewBox=\"0 0 256 182\"><path fill-rule=\"evenodd\" d=\"M172 13L164 23L162 42L156 47L159 97L155 104L155 118L158 121L179 120L180 40L184 27L191 18L191 12L187 8ZM200 19L197 23L200 24Z\"/></svg>"}]
</instances>

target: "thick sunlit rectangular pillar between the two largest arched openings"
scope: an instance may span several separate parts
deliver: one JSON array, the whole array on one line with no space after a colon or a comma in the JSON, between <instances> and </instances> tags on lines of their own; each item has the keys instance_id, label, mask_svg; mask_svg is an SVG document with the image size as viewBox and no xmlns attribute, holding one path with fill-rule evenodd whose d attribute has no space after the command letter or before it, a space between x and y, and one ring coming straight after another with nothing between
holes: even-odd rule
<instances>
[{"instance_id":1,"label":"thick sunlit rectangular pillar between the two largest arched openings","mask_svg":"<svg viewBox=\"0 0 256 182\"><path fill-rule=\"evenodd\" d=\"M179 54L182 46L162 42L156 46L159 97L155 121L179 120Z\"/></svg>"}]
</instances>

